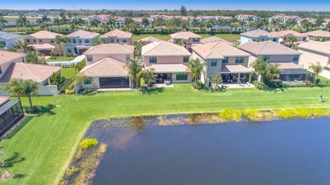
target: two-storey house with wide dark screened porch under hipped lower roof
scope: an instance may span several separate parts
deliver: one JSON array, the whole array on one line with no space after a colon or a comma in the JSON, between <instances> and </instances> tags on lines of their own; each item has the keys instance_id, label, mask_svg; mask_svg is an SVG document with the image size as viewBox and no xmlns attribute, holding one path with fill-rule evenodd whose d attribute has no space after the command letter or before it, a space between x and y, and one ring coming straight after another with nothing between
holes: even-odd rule
<instances>
[{"instance_id":1,"label":"two-storey house with wide dark screened porch under hipped lower roof","mask_svg":"<svg viewBox=\"0 0 330 185\"><path fill-rule=\"evenodd\" d=\"M133 45L101 44L84 52L87 65L80 74L87 76L81 89L132 87L126 64L134 58Z\"/></svg>"}]
</instances>

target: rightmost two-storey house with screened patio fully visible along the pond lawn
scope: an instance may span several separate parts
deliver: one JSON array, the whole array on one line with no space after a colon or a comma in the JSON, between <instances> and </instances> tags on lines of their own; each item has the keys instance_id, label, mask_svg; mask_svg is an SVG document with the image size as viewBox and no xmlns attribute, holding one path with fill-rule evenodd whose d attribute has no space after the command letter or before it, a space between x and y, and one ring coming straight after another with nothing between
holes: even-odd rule
<instances>
[{"instance_id":1,"label":"rightmost two-storey house with screened patio fully visible along the pond lawn","mask_svg":"<svg viewBox=\"0 0 330 185\"><path fill-rule=\"evenodd\" d=\"M309 74L303 65L298 65L300 52L273 41L263 41L261 43L250 41L239 45L239 49L252 54L249 65L259 56L270 63L280 64L279 74L281 80L305 80Z\"/></svg>"}]
</instances>

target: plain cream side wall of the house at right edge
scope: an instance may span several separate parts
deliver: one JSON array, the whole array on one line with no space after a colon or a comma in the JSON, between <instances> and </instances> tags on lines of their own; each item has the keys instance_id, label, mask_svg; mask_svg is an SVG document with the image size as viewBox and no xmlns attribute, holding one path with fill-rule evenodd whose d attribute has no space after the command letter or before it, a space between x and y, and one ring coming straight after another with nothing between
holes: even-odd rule
<instances>
[{"instance_id":1,"label":"plain cream side wall of the house at right edge","mask_svg":"<svg viewBox=\"0 0 330 185\"><path fill-rule=\"evenodd\" d=\"M323 67L330 64L330 56L327 54L313 52L305 49L300 49L298 52L302 53L300 56L299 64L304 65L306 68L308 68L312 63L316 64L317 62L319 62Z\"/></svg>"}]
</instances>

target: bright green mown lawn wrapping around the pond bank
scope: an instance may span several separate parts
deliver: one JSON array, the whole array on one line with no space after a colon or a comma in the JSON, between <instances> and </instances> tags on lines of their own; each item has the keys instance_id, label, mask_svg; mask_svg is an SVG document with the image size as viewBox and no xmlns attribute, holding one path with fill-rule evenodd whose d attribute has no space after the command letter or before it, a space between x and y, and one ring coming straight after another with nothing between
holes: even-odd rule
<instances>
[{"instance_id":1,"label":"bright green mown lawn wrapping around the pond bank","mask_svg":"<svg viewBox=\"0 0 330 185\"><path fill-rule=\"evenodd\" d=\"M325 95L325 102L318 101L320 94ZM58 184L78 141L93 120L221 109L330 108L330 87L283 91L228 89L224 93L210 93L194 91L188 84L175 84L174 88L157 94L128 91L95 96L43 96L32 100L34 105L43 107L43 114L34 116L16 135L0 142L8 157L14 153L23 157L23 161L10 167L18 177L3 184ZM27 98L23 98L23 105L28 105Z\"/></svg>"}]
</instances>

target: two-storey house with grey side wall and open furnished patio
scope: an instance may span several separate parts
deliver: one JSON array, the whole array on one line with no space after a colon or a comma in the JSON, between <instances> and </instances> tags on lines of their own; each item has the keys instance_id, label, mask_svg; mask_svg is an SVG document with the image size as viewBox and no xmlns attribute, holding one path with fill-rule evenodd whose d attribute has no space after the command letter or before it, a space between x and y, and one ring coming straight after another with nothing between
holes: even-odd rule
<instances>
[{"instance_id":1,"label":"two-storey house with grey side wall and open furnished patio","mask_svg":"<svg viewBox=\"0 0 330 185\"><path fill-rule=\"evenodd\" d=\"M248 67L250 56L222 42L192 47L192 58L199 58L202 63L206 63L200 77L207 87L210 86L210 78L216 73L221 74L223 83L251 82L254 72Z\"/></svg>"}]
</instances>

